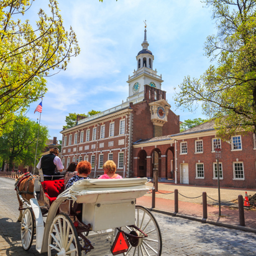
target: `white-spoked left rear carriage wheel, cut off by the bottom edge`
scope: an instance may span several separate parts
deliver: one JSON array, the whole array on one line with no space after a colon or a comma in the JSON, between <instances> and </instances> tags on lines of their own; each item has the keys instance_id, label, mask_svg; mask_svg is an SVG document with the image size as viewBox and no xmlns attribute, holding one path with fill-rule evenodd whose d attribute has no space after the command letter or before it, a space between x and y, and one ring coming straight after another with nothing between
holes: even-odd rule
<instances>
[{"instance_id":1,"label":"white-spoked left rear carriage wheel, cut off by the bottom edge","mask_svg":"<svg viewBox=\"0 0 256 256\"><path fill-rule=\"evenodd\" d=\"M48 256L81 256L81 247L70 217L58 214L52 222L48 237Z\"/></svg>"}]
</instances>

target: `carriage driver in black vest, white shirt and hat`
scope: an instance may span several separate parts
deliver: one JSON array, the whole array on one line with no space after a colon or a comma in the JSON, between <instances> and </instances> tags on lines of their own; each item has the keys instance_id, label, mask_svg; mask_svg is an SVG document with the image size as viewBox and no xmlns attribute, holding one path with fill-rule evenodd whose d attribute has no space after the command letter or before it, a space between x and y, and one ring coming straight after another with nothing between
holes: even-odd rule
<instances>
[{"instance_id":1,"label":"carriage driver in black vest, white shirt and hat","mask_svg":"<svg viewBox=\"0 0 256 256\"><path fill-rule=\"evenodd\" d=\"M50 153L48 155L43 155L40 158L40 161L37 165L37 168L42 168L43 175L52 176L52 175L65 175L66 171L63 171L62 161L60 157L58 157L58 149L57 147L50 149ZM57 168L61 173L55 172Z\"/></svg>"}]
</instances>

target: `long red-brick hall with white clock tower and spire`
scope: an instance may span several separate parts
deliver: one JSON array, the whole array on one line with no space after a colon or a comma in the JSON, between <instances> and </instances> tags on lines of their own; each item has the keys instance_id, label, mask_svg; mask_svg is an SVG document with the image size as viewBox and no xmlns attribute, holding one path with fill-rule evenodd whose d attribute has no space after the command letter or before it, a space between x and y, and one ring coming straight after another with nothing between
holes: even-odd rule
<instances>
[{"instance_id":1,"label":"long red-brick hall with white clock tower and spire","mask_svg":"<svg viewBox=\"0 0 256 256\"><path fill-rule=\"evenodd\" d=\"M64 170L71 162L88 160L93 167L91 176L99 176L104 172L103 163L111 159L116 162L119 175L137 176L132 144L179 132L180 117L170 110L166 92L161 88L162 75L153 70L154 56L148 47L145 29L142 50L136 57L137 69L127 81L129 96L126 102L94 116L78 116L76 126L62 130ZM157 153L151 160L150 169L153 164L158 165ZM146 176L145 165L139 168L140 176Z\"/></svg>"}]
</instances>

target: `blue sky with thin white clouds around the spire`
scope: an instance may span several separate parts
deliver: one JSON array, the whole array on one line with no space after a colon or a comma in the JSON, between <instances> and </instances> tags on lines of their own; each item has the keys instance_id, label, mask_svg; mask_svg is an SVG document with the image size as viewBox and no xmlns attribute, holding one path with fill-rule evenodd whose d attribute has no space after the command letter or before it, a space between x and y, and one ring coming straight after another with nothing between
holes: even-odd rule
<instances>
[{"instance_id":1,"label":"blue sky with thin white clouds around the spire","mask_svg":"<svg viewBox=\"0 0 256 256\"><path fill-rule=\"evenodd\" d=\"M26 14L30 23L37 21L39 8L48 10L47 4L47 0L34 2ZM62 0L58 7L65 29L71 26L75 31L81 53L71 58L66 71L47 79L41 124L48 126L49 139L62 139L68 113L104 111L126 101L126 81L137 68L145 20L153 69L162 74L171 110L180 121L206 118L200 108L194 113L177 109L173 100L185 76L199 78L211 64L203 47L216 29L211 10L200 0ZM31 104L27 112L34 121L39 103Z\"/></svg>"}]
</instances>

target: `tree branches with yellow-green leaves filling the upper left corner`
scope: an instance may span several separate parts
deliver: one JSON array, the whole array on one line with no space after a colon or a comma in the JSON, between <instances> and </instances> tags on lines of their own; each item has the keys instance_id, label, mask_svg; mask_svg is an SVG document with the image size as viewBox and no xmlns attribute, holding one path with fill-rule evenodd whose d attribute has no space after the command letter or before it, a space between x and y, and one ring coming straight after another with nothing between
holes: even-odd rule
<instances>
[{"instance_id":1,"label":"tree branches with yellow-green leaves filling the upper left corner","mask_svg":"<svg viewBox=\"0 0 256 256\"><path fill-rule=\"evenodd\" d=\"M63 27L57 1L48 0L50 16L40 9L35 24L21 22L33 1L0 2L0 135L46 93L46 77L66 70L70 57L80 53L72 28Z\"/></svg>"}]
</instances>

